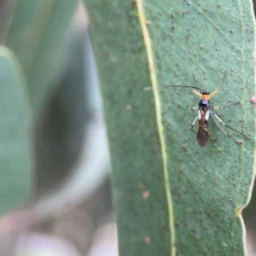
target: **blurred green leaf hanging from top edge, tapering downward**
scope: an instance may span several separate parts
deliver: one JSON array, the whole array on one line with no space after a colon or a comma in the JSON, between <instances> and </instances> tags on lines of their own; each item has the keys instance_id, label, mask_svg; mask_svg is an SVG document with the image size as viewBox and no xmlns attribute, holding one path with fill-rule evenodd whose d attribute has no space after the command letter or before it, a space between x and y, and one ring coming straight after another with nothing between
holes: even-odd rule
<instances>
[{"instance_id":1,"label":"blurred green leaf hanging from top edge, tapering downward","mask_svg":"<svg viewBox=\"0 0 256 256\"><path fill-rule=\"evenodd\" d=\"M6 39L24 69L35 116L51 96L68 56L77 0L19 0Z\"/></svg>"}]
</instances>

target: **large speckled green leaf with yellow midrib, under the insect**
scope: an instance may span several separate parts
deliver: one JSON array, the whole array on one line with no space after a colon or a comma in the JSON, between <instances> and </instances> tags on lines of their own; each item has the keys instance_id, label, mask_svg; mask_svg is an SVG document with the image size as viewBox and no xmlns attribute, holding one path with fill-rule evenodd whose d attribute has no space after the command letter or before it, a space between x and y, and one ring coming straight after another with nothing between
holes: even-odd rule
<instances>
[{"instance_id":1,"label":"large speckled green leaf with yellow midrib, under the insect","mask_svg":"<svg viewBox=\"0 0 256 256\"><path fill-rule=\"evenodd\" d=\"M244 255L241 209L253 186L254 18L250 1L87 3L113 166L124 255ZM225 73L225 75L224 75ZM222 82L223 80L223 82ZM200 98L218 92L201 148L189 130ZM195 126L198 123L196 122ZM197 127L195 127L195 130Z\"/></svg>"}]
</instances>

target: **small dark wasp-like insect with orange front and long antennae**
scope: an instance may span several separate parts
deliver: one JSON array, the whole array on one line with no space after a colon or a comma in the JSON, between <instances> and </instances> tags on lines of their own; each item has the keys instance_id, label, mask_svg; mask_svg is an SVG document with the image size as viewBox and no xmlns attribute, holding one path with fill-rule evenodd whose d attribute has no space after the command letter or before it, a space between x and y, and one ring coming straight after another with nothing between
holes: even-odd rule
<instances>
[{"instance_id":1,"label":"small dark wasp-like insect with orange front and long antennae","mask_svg":"<svg viewBox=\"0 0 256 256\"><path fill-rule=\"evenodd\" d=\"M163 86L162 88L168 88L168 87L181 87L181 88L192 88L192 92L194 92L197 96L201 96L201 101L198 103L197 107L192 107L189 109L198 109L198 115L196 116L195 120L193 121L192 125L189 126L191 131L194 131L197 133L197 141L201 147L205 147L207 145L208 137L209 137L209 131L208 131L208 119L210 115L212 116L213 121L215 124L218 126L218 128L223 131L224 133L227 133L224 131L224 129L219 125L224 125L227 128L230 128L233 131L236 131L237 133L241 134L244 137L247 137L245 134L241 133L240 131L237 131L236 129L230 127L230 125L226 125L216 113L212 111L212 109L219 109L223 110L224 108L229 108L232 105L238 104L240 102L234 102L231 103L223 108L219 107L212 107L210 104L210 99L212 96L214 96L218 91L220 90L220 87L217 90L214 90L212 94L210 94L209 90L202 90L198 87L195 86L185 86L185 85L166 85ZM152 90L154 87L146 87L144 90ZM200 92L196 91L200 90ZM199 125L198 125L198 131L196 132L193 130L193 126L195 125L195 122L199 120ZM219 122L219 123L218 123ZM247 137L247 139L249 139Z\"/></svg>"}]
</instances>

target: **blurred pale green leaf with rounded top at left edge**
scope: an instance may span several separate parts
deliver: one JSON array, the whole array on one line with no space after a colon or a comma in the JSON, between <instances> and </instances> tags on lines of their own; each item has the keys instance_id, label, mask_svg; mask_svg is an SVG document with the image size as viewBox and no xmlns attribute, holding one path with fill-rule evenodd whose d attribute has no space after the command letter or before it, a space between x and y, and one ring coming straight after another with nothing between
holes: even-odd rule
<instances>
[{"instance_id":1,"label":"blurred pale green leaf with rounded top at left edge","mask_svg":"<svg viewBox=\"0 0 256 256\"><path fill-rule=\"evenodd\" d=\"M0 213L32 193L32 115L20 64L0 47Z\"/></svg>"}]
</instances>

